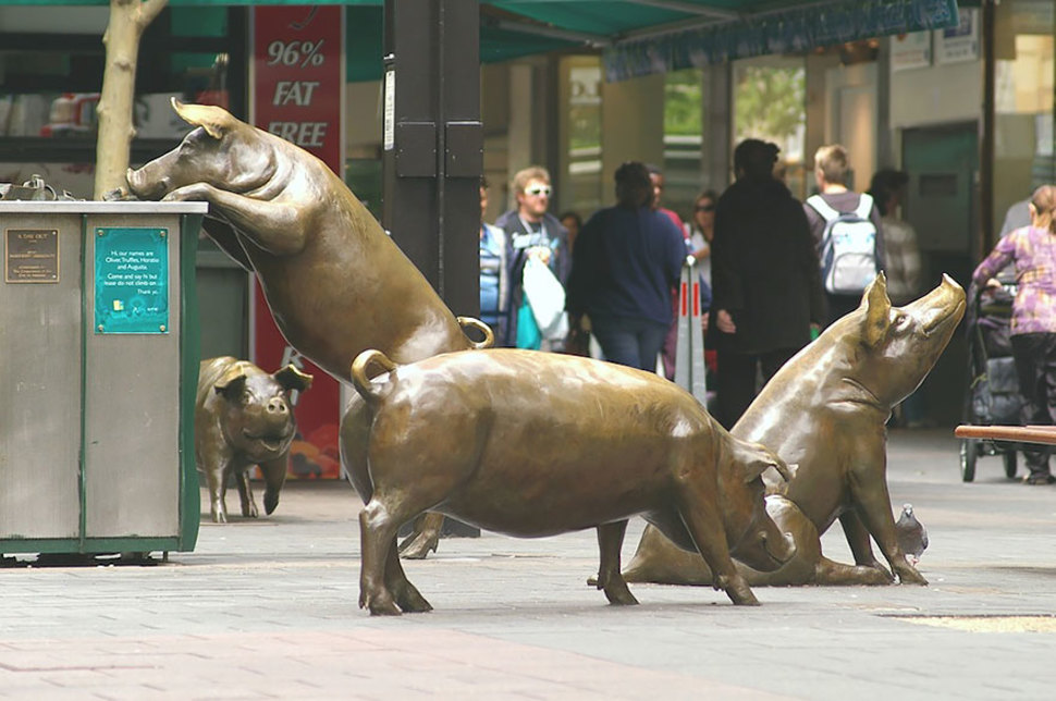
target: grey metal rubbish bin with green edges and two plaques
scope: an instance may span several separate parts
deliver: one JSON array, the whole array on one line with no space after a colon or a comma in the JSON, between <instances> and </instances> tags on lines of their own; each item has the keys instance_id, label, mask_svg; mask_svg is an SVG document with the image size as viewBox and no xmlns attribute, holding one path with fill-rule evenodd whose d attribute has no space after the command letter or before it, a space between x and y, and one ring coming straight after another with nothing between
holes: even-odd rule
<instances>
[{"instance_id":1,"label":"grey metal rubbish bin with green edges and two plaques","mask_svg":"<svg viewBox=\"0 0 1056 701\"><path fill-rule=\"evenodd\" d=\"M0 201L0 553L194 549L206 211Z\"/></svg>"}]
</instances>

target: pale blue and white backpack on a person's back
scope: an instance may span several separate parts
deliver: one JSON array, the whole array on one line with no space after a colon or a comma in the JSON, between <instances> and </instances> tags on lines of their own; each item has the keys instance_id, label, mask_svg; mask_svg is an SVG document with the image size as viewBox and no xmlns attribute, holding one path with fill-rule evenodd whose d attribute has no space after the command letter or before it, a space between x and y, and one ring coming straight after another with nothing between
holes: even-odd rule
<instances>
[{"instance_id":1,"label":"pale blue and white backpack on a person's back","mask_svg":"<svg viewBox=\"0 0 1056 701\"><path fill-rule=\"evenodd\" d=\"M860 295L876 278L876 226L869 219L873 198L861 195L858 207L840 212L826 202L821 195L807 198L825 220L821 236L822 284L825 292L834 295Z\"/></svg>"}]
</instances>

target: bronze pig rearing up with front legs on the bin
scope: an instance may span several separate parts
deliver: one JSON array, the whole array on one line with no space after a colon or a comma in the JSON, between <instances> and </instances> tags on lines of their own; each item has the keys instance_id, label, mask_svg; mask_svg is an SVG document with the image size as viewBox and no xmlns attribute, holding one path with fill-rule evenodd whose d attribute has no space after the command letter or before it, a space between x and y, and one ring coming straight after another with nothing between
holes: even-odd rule
<instances>
[{"instance_id":1,"label":"bronze pig rearing up with front legs on the bin","mask_svg":"<svg viewBox=\"0 0 1056 701\"><path fill-rule=\"evenodd\" d=\"M491 345L490 331L452 315L326 163L222 108L172 106L195 128L176 149L130 170L130 190L143 199L208 201L207 233L256 273L282 335L305 357L351 381L352 361L367 348L414 362ZM484 341L467 339L463 325ZM358 421L366 435L368 416L353 411L345 420ZM365 463L366 454L349 447L346 459ZM434 550L441 521L430 518L406 554Z\"/></svg>"}]
</instances>

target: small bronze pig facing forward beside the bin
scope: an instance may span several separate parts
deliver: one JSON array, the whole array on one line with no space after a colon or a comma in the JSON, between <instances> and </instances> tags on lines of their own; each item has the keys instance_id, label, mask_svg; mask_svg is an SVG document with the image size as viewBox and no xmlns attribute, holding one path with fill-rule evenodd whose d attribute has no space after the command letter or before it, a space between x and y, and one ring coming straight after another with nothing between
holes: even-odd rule
<instances>
[{"instance_id":1,"label":"small bronze pig facing forward beside the bin","mask_svg":"<svg viewBox=\"0 0 1056 701\"><path fill-rule=\"evenodd\" d=\"M268 374L247 360L232 357L202 360L195 404L195 458L209 484L209 513L228 521L224 496L233 476L242 515L257 517L249 468L260 466L265 479L265 512L279 504L286 481L290 444L297 431L290 406L291 390L311 386L311 376L287 365Z\"/></svg>"}]
</instances>

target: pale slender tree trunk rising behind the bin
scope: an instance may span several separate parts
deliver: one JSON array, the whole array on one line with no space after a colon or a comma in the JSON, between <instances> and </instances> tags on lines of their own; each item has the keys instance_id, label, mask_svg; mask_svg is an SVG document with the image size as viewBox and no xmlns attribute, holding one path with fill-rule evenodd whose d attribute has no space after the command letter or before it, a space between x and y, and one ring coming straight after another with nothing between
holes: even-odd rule
<instances>
[{"instance_id":1,"label":"pale slender tree trunk rising behind the bin","mask_svg":"<svg viewBox=\"0 0 1056 701\"><path fill-rule=\"evenodd\" d=\"M143 30L169 0L110 0L110 24L102 42L107 65L97 114L95 199L125 184L132 139L132 110L136 94L136 60Z\"/></svg>"}]
</instances>

